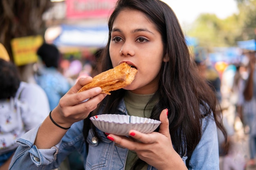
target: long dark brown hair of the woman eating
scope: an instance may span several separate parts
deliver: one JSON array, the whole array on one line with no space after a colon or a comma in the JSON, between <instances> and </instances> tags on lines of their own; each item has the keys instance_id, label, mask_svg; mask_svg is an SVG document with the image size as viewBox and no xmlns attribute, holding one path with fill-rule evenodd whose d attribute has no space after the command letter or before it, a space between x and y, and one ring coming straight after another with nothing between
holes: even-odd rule
<instances>
[{"instance_id":1,"label":"long dark brown hair of the woman eating","mask_svg":"<svg viewBox=\"0 0 256 170\"><path fill-rule=\"evenodd\" d=\"M164 2L160 0L117 1L108 22L109 39L106 49L103 51L103 71L113 68L109 53L110 32L117 15L124 9L138 10L144 13L162 35L164 54L168 58L168 62L162 63L159 73L159 88L153 96L153 98L161 96L161 99L153 108L150 118L159 120L161 111L168 108L169 131L176 152L180 156L192 154L202 136L201 119L211 113L213 113L216 125L226 137L226 131L222 125L222 114L217 109L215 93L205 79L199 77L177 17ZM124 89L113 91L91 115L96 115L103 103L108 106L103 108L103 113L115 113L120 100L124 97L124 91ZM204 114L200 112L200 106L204 107ZM85 119L85 139L90 127L89 123L90 121ZM141 164L143 161L138 160L134 169Z\"/></svg>"}]
</instances>

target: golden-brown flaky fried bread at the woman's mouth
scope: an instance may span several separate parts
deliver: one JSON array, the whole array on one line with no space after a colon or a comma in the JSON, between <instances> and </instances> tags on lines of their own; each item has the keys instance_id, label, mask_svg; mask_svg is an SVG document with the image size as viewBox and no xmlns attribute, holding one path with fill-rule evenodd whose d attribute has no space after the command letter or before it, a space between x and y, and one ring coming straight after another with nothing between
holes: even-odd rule
<instances>
[{"instance_id":1,"label":"golden-brown flaky fried bread at the woman's mouth","mask_svg":"<svg viewBox=\"0 0 256 170\"><path fill-rule=\"evenodd\" d=\"M85 91L93 87L101 87L101 93L110 95L110 91L115 91L130 85L134 80L136 73L136 68L132 68L124 62L115 68L94 76L92 78L92 82L85 84L85 86L83 86L78 92Z\"/></svg>"}]
</instances>

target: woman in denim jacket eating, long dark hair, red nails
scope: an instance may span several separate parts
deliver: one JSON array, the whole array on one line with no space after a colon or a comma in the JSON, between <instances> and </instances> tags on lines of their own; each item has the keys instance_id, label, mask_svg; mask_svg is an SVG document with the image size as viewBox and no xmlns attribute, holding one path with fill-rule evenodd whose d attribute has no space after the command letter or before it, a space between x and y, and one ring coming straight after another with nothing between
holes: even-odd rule
<instances>
[{"instance_id":1,"label":"woman in denim jacket eating, long dark hair, red nails","mask_svg":"<svg viewBox=\"0 0 256 170\"><path fill-rule=\"evenodd\" d=\"M86 170L219 169L217 127L225 130L216 97L198 77L170 7L159 0L119 0L108 26L103 71L127 62L137 68L135 80L106 96L99 87L76 93L92 81L79 79L50 114L58 126L47 117L18 140L22 146L11 170L21 162L28 170L56 168L74 149L83 155ZM89 119L103 113L162 123L149 134L105 134Z\"/></svg>"}]
</instances>

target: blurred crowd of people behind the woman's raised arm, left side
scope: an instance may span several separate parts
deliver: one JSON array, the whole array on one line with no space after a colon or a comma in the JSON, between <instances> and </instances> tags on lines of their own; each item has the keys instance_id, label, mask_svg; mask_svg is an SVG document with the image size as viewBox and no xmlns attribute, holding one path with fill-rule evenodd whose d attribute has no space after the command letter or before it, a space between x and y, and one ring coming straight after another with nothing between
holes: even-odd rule
<instances>
[{"instance_id":1,"label":"blurred crowd of people behind the woman's raised arm, left side","mask_svg":"<svg viewBox=\"0 0 256 170\"><path fill-rule=\"evenodd\" d=\"M25 82L0 44L0 170L8 169L18 147L16 140L41 124L77 79L101 72L101 51L94 50L85 61L73 56L65 59L57 46L43 43L36 51L38 62ZM71 153L59 170L84 170L82 157Z\"/></svg>"}]
</instances>

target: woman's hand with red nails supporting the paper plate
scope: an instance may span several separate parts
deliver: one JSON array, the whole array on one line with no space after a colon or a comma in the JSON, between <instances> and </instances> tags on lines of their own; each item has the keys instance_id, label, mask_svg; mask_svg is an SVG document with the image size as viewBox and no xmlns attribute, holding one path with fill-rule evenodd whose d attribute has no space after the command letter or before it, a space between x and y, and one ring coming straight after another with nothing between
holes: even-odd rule
<instances>
[{"instance_id":1,"label":"woman's hand with red nails supporting the paper plate","mask_svg":"<svg viewBox=\"0 0 256 170\"><path fill-rule=\"evenodd\" d=\"M159 126L159 132L145 134L136 130L130 130L130 138L110 134L108 139L124 148L135 151L141 160L158 170L185 170L187 168L184 162L172 145L167 115L168 110L163 110L160 115L162 123Z\"/></svg>"}]
</instances>

